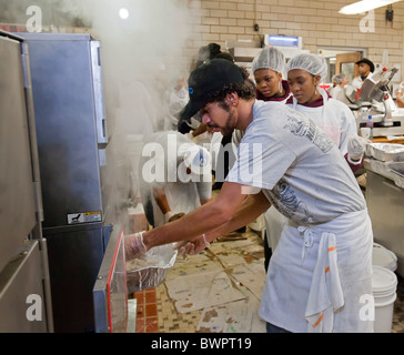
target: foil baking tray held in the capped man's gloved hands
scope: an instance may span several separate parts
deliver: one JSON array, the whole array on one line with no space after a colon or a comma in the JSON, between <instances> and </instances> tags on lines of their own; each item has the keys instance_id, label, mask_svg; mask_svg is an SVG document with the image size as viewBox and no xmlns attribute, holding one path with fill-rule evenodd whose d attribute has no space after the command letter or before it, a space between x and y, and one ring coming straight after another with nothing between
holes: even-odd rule
<instances>
[{"instance_id":1,"label":"foil baking tray held in the capped man's gloved hands","mask_svg":"<svg viewBox=\"0 0 404 355\"><path fill-rule=\"evenodd\" d=\"M152 247L139 258L127 262L128 292L156 287L164 282L166 272L175 263L178 251L173 244Z\"/></svg>"}]
</instances>

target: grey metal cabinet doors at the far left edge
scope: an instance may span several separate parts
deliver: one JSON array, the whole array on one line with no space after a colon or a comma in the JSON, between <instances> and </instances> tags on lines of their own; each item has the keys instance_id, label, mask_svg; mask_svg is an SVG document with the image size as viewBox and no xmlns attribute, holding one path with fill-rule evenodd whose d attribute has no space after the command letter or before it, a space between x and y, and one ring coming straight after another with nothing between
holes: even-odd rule
<instances>
[{"instance_id":1,"label":"grey metal cabinet doors at the far left edge","mask_svg":"<svg viewBox=\"0 0 404 355\"><path fill-rule=\"evenodd\" d=\"M29 52L0 30L0 332L52 332Z\"/></svg>"}]
</instances>

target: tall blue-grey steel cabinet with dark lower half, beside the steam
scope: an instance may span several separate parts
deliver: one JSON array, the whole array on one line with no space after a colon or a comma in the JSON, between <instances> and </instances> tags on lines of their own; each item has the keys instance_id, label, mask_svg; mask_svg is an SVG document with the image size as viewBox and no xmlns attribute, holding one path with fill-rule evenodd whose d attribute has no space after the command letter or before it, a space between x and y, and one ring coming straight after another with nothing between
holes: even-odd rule
<instances>
[{"instance_id":1,"label":"tall blue-grey steel cabinet with dark lower half, beside the steam","mask_svg":"<svg viewBox=\"0 0 404 355\"><path fill-rule=\"evenodd\" d=\"M93 332L92 287L113 225L100 42L19 33L29 48L55 332Z\"/></svg>"}]
</instances>

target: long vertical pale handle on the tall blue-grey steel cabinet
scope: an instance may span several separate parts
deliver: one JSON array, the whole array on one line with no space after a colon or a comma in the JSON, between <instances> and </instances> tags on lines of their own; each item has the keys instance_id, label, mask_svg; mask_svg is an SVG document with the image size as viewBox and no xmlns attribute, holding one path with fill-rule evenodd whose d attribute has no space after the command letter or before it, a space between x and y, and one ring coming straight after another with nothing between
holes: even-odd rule
<instances>
[{"instance_id":1,"label":"long vertical pale handle on the tall blue-grey steel cabinet","mask_svg":"<svg viewBox=\"0 0 404 355\"><path fill-rule=\"evenodd\" d=\"M95 124L97 139L99 148L105 148L108 144L105 108L102 90L102 70L101 70L101 44L100 41L90 41L91 49L91 67L94 88L94 106L95 106Z\"/></svg>"}]
</instances>

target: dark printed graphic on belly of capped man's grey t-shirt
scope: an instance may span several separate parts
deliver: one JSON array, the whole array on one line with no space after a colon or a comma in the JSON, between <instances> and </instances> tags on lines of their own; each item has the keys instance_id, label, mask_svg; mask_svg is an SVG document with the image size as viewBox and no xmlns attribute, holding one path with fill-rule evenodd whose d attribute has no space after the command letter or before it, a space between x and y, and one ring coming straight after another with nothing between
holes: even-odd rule
<instances>
[{"instance_id":1,"label":"dark printed graphic on belly of capped man's grey t-shirt","mask_svg":"<svg viewBox=\"0 0 404 355\"><path fill-rule=\"evenodd\" d=\"M287 219L303 224L313 224L317 221L310 214L305 203L300 201L295 191L284 181L279 183L270 192L270 202Z\"/></svg>"}]
</instances>

